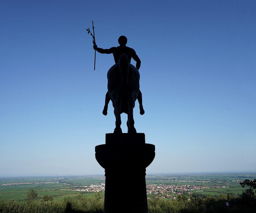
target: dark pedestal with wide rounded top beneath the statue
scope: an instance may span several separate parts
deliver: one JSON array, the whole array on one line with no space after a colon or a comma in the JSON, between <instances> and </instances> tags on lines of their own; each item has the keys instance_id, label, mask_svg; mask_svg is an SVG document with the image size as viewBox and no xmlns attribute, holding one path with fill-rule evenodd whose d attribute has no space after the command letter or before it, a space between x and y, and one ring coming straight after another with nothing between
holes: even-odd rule
<instances>
[{"instance_id":1,"label":"dark pedestal with wide rounded top beneath the statue","mask_svg":"<svg viewBox=\"0 0 256 213\"><path fill-rule=\"evenodd\" d=\"M105 213L147 213L146 167L155 158L155 145L145 134L106 134L106 144L95 147L105 168Z\"/></svg>"}]
</instances>

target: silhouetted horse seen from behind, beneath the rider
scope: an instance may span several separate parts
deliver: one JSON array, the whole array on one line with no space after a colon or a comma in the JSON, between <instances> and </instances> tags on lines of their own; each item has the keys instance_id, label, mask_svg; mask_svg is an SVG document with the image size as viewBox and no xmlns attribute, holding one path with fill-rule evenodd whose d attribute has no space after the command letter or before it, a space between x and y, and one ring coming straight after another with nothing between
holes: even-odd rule
<instances>
[{"instance_id":1,"label":"silhouetted horse seen from behind, beneath the rider","mask_svg":"<svg viewBox=\"0 0 256 213\"><path fill-rule=\"evenodd\" d=\"M126 54L121 54L119 63L108 71L108 93L114 107L116 128L114 133L122 133L121 113L128 115L128 133L137 133L134 127L133 108L139 93L139 71L129 63Z\"/></svg>"}]
</instances>

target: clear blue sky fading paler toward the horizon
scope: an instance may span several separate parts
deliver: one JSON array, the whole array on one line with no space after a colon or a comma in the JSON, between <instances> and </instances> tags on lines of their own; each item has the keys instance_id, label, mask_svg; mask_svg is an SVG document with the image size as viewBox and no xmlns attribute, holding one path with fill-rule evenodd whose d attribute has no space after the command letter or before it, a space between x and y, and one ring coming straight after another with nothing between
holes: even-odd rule
<instances>
[{"instance_id":1,"label":"clear blue sky fading paler toward the horizon","mask_svg":"<svg viewBox=\"0 0 256 213\"><path fill-rule=\"evenodd\" d=\"M0 175L104 174L120 35L141 59L147 173L255 171L255 1L1 1ZM132 64L135 64L132 61ZM122 115L126 132L126 115Z\"/></svg>"}]
</instances>

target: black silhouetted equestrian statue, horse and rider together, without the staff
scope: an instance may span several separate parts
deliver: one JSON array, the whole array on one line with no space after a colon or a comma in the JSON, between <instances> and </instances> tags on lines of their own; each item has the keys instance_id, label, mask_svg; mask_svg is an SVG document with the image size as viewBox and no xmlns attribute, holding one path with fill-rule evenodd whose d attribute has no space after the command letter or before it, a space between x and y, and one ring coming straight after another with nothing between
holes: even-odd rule
<instances>
[{"instance_id":1,"label":"black silhouetted equestrian statue, horse and rider together, without the staff","mask_svg":"<svg viewBox=\"0 0 256 213\"><path fill-rule=\"evenodd\" d=\"M126 47L127 38L120 36L118 39L119 47L111 47L110 49L101 49L94 45L94 50L99 53L113 54L116 64L108 71L108 92L106 93L105 106L103 115L107 115L108 103L111 100L116 116L116 128L114 133L122 133L121 129L121 113L128 115L127 127L128 133L136 133L133 120L133 108L135 101L138 99L140 105L140 114L144 114L142 106L142 94L139 90L139 68L140 59L136 52ZM136 61L136 67L131 63L131 58Z\"/></svg>"}]
</instances>

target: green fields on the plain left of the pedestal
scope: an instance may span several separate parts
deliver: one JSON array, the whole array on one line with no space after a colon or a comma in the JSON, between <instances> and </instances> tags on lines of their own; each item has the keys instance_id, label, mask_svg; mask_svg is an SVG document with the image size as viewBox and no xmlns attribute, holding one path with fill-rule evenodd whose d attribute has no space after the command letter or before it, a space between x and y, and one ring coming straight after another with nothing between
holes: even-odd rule
<instances>
[{"instance_id":1,"label":"green fields on the plain left of the pedestal","mask_svg":"<svg viewBox=\"0 0 256 213\"><path fill-rule=\"evenodd\" d=\"M36 182L59 182L59 183L39 183ZM6 183L34 183L24 185L8 185L3 186ZM14 199L15 201L26 201L27 192L30 189L34 189L38 196L37 200L42 199L45 195L52 196L54 200L64 200L65 197L75 197L81 193L81 191L69 191L61 189L73 189L75 186L89 186L96 183L104 183L104 177L39 177L26 179L17 178L3 178L0 179L0 201L8 201ZM95 193L82 193L83 197L92 197ZM103 194L103 195L102 195ZM104 193L101 193L104 196Z\"/></svg>"}]
</instances>

